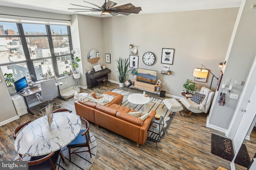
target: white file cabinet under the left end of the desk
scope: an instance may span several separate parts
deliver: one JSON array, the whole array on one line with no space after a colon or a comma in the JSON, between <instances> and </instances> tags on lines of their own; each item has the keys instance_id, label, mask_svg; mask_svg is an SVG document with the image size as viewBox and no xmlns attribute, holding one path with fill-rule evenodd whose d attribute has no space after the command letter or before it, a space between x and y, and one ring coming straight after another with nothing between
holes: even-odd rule
<instances>
[{"instance_id":1,"label":"white file cabinet under the left end of the desk","mask_svg":"<svg viewBox=\"0 0 256 170\"><path fill-rule=\"evenodd\" d=\"M18 116L22 116L28 113L26 104L22 96L20 96L19 94L13 95L12 102L14 104Z\"/></svg>"}]
</instances>

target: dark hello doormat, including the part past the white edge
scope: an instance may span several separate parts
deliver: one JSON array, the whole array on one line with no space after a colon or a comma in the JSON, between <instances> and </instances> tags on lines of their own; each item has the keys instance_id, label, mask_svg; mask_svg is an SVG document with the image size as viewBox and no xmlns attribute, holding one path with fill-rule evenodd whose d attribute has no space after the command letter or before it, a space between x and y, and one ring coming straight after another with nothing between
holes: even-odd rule
<instances>
[{"instance_id":1,"label":"dark hello doormat, including the part past the white edge","mask_svg":"<svg viewBox=\"0 0 256 170\"><path fill-rule=\"evenodd\" d=\"M212 154L220 156L226 160L232 161L234 158L234 149L231 139L220 137L212 133ZM236 156L235 163L248 167L250 164L250 157L247 152L246 146L243 144Z\"/></svg>"}]
</instances>

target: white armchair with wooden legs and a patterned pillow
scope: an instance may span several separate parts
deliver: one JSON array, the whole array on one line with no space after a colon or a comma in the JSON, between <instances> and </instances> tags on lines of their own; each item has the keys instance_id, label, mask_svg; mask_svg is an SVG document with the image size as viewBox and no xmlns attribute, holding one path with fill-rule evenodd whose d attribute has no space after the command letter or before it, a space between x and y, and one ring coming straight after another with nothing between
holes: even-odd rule
<instances>
[{"instance_id":1,"label":"white armchair with wooden legs and a patterned pillow","mask_svg":"<svg viewBox=\"0 0 256 170\"><path fill-rule=\"evenodd\" d=\"M207 113L210 109L215 93L203 86L200 89L199 94L205 95L199 104L193 102L191 99L180 98L180 102L182 102L182 104L190 111L186 117L188 117L191 113Z\"/></svg>"}]
</instances>

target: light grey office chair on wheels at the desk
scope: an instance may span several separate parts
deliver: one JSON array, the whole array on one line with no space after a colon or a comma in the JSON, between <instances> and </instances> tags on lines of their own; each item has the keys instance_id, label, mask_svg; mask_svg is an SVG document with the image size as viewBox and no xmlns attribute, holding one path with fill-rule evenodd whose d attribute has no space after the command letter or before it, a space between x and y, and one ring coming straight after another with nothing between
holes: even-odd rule
<instances>
[{"instance_id":1,"label":"light grey office chair on wheels at the desk","mask_svg":"<svg viewBox=\"0 0 256 170\"><path fill-rule=\"evenodd\" d=\"M42 94L40 95L40 94L36 93L36 97L41 102L48 101L48 104L46 104L46 106L47 106L50 104L50 100L53 100L54 98L56 98L58 96L56 84L55 84L54 79L51 78L51 79L44 80L44 81L40 82L40 85L41 85ZM58 106L60 108L59 105L54 105L54 104L55 104L55 102L52 103L52 105ZM44 109L44 108L42 108L42 109ZM40 109L40 112L42 111L42 109Z\"/></svg>"}]
</instances>

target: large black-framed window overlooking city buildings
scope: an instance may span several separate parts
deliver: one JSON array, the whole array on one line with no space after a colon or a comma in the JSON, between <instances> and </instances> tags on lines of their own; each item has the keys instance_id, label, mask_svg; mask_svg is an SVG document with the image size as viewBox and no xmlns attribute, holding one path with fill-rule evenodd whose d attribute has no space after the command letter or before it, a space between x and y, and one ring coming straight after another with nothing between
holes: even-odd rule
<instances>
[{"instance_id":1,"label":"large black-framed window overlooking city buildings","mask_svg":"<svg viewBox=\"0 0 256 170\"><path fill-rule=\"evenodd\" d=\"M70 27L0 22L0 68L16 80L28 71L41 80L47 72L62 76L71 62Z\"/></svg>"}]
</instances>

